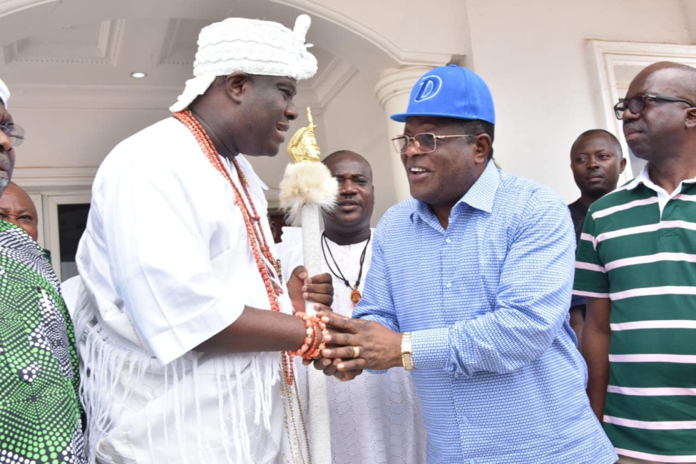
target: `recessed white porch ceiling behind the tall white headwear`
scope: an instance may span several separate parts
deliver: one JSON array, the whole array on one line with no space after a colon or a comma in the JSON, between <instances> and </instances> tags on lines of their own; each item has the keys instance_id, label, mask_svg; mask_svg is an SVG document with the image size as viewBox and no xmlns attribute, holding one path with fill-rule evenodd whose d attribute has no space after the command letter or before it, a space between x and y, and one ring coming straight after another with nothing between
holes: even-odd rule
<instances>
[{"instance_id":1,"label":"recessed white porch ceiling behind the tall white headwear","mask_svg":"<svg viewBox=\"0 0 696 464\"><path fill-rule=\"evenodd\" d=\"M159 88L174 97L191 78L196 39L207 19L103 19L89 24L66 24L3 46L0 75L10 88L79 90ZM303 99L317 106L355 74L356 68L321 47L313 47L319 72L300 83ZM131 72L147 74L134 79ZM89 95L93 97L93 92ZM31 97L28 97L31 98ZM13 99L13 106L31 105Z\"/></svg>"}]
</instances>

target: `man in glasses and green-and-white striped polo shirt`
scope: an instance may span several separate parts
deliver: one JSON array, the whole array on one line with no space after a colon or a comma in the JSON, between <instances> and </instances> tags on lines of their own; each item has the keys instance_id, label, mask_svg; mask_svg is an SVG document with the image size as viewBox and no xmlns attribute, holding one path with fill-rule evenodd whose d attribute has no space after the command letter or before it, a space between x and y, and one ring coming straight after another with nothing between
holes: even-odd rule
<instances>
[{"instance_id":1,"label":"man in glasses and green-and-white striped polo shirt","mask_svg":"<svg viewBox=\"0 0 696 464\"><path fill-rule=\"evenodd\" d=\"M615 107L638 177L590 207L587 394L620 463L696 462L696 69L655 63Z\"/></svg>"}]
</instances>

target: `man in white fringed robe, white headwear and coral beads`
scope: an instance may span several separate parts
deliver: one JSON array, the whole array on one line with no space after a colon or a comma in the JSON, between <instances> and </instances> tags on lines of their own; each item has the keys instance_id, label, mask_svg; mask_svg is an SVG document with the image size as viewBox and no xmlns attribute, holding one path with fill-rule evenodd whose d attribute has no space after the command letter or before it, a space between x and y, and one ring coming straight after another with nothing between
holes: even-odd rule
<instances>
[{"instance_id":1,"label":"man in white fringed robe, white headwear and coral beads","mask_svg":"<svg viewBox=\"0 0 696 464\"><path fill-rule=\"evenodd\" d=\"M300 268L286 289L255 253L263 237L275 253L267 187L240 153L274 156L297 117L296 81L316 71L309 22L204 28L175 118L122 141L95 177L74 315L91 461L300 462L281 351L306 336L292 306L303 292L330 305L331 278L305 285Z\"/></svg>"}]
</instances>

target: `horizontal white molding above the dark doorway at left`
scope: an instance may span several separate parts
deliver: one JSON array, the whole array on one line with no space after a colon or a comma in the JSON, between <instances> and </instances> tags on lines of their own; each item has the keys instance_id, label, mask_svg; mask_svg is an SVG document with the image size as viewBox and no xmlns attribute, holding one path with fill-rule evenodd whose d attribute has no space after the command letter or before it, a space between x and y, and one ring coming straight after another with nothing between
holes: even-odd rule
<instances>
[{"instance_id":1,"label":"horizontal white molding above the dark doorway at left","mask_svg":"<svg viewBox=\"0 0 696 464\"><path fill-rule=\"evenodd\" d=\"M26 191L39 192L45 189L65 187L91 189L97 168L15 168L12 179Z\"/></svg>"}]
</instances>

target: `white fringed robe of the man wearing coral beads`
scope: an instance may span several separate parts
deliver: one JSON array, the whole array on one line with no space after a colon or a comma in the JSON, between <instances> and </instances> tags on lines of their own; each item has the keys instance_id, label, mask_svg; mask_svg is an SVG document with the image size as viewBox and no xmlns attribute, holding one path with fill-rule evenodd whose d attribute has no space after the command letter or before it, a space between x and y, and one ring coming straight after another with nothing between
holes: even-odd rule
<instances>
[{"instance_id":1,"label":"white fringed robe of the man wearing coral beads","mask_svg":"<svg viewBox=\"0 0 696 464\"><path fill-rule=\"evenodd\" d=\"M265 186L238 159L272 249ZM280 353L191 351L244 305L270 305L232 187L180 122L158 122L104 160L77 266L90 458L290 461ZM287 293L280 305L291 312Z\"/></svg>"}]
</instances>

